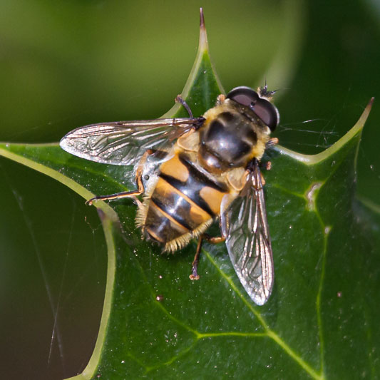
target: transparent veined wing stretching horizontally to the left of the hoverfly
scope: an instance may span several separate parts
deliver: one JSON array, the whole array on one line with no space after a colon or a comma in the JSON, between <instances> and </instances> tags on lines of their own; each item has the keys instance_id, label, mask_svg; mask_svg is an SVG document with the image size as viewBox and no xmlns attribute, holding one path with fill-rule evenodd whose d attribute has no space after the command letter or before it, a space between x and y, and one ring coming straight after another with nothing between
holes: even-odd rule
<instances>
[{"instance_id":1,"label":"transparent veined wing stretching horizontally to the left of the hoverfly","mask_svg":"<svg viewBox=\"0 0 380 380\"><path fill-rule=\"evenodd\" d=\"M161 150L203 118L119 121L86 125L65 135L61 148L86 160L135 165L148 149Z\"/></svg>"}]
</instances>

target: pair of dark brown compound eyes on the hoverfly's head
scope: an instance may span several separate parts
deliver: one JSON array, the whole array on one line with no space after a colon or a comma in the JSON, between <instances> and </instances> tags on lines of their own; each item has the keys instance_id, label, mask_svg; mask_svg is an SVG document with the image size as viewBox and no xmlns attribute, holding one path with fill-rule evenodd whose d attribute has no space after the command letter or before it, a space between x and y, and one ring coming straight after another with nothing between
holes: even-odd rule
<instances>
[{"instance_id":1,"label":"pair of dark brown compound eyes on the hoverfly's head","mask_svg":"<svg viewBox=\"0 0 380 380\"><path fill-rule=\"evenodd\" d=\"M273 132L279 123L277 108L267 99L260 98L259 94L249 87L236 87L228 93L227 98L242 106L249 107Z\"/></svg>"}]
</instances>

